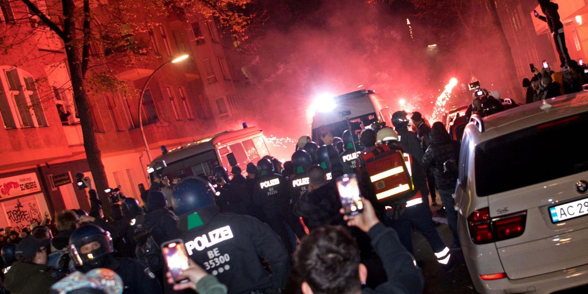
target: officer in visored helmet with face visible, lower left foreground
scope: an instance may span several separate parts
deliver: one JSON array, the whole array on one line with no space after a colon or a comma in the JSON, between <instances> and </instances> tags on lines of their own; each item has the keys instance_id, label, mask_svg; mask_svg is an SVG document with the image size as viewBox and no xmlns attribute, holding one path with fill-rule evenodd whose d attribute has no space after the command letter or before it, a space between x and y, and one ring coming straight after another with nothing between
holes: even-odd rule
<instances>
[{"instance_id":1,"label":"officer in visored helmet with face visible, lower left foreground","mask_svg":"<svg viewBox=\"0 0 588 294\"><path fill-rule=\"evenodd\" d=\"M74 230L69 237L69 255L77 270L107 268L121 276L123 294L163 293L159 280L149 268L136 259L115 258L110 233L88 224Z\"/></svg>"}]
</instances>

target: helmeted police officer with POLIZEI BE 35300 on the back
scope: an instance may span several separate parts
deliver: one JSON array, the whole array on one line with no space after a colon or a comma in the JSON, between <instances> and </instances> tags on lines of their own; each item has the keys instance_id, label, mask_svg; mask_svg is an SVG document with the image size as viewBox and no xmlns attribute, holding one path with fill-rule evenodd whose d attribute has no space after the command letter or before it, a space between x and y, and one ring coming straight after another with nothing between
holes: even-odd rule
<instances>
[{"instance_id":1,"label":"helmeted police officer with POLIZEI BE 35300 on the back","mask_svg":"<svg viewBox=\"0 0 588 294\"><path fill-rule=\"evenodd\" d=\"M199 178L179 183L173 200L188 255L229 294L270 294L285 287L288 253L268 225L252 216L220 213L214 188ZM271 275L261 259L270 264Z\"/></svg>"}]
</instances>

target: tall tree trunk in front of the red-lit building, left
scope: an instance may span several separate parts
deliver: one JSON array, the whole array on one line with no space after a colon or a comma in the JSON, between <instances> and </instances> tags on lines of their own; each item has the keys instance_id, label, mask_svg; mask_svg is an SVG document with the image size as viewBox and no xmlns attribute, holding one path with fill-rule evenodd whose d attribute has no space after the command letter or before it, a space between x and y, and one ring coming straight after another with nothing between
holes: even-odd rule
<instances>
[{"instance_id":1,"label":"tall tree trunk in front of the red-lit building, left","mask_svg":"<svg viewBox=\"0 0 588 294\"><path fill-rule=\"evenodd\" d=\"M82 125L83 148L86 151L86 159L92 172L94 186L98 196L102 201L102 211L106 216L112 216L110 202L108 195L104 192L108 188L108 181L106 181L106 172L102 164L102 152L98 147L96 135L93 130L93 116L91 115L91 106L88 99L88 93L84 87L84 79L82 74L81 57L78 55L79 50L72 43L75 43L75 22L68 15L72 15L75 9L73 0L64 0L64 33L65 33L65 54L68 58L69 75L71 76L72 88L74 90L74 101L78 107L79 120Z\"/></svg>"}]
</instances>

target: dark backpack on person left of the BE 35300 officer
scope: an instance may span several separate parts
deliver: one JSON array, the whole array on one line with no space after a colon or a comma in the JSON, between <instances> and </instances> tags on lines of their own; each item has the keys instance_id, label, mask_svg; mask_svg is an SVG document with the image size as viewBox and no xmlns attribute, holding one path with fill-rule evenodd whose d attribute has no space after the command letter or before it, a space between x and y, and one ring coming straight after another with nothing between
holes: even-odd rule
<instances>
[{"instance_id":1,"label":"dark backpack on person left of the BE 35300 officer","mask_svg":"<svg viewBox=\"0 0 588 294\"><path fill-rule=\"evenodd\" d=\"M142 228L143 215L136 217L136 229L133 239L137 242L135 255L139 261L145 263L151 272L158 273L163 269L163 255L161 248L151 236L151 230Z\"/></svg>"}]
</instances>

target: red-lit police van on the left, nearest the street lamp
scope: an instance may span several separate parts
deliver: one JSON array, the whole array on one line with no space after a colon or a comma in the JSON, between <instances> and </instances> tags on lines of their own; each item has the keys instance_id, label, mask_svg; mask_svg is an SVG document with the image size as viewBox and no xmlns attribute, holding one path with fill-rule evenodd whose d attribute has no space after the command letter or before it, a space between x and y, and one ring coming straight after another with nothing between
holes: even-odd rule
<instances>
[{"instance_id":1,"label":"red-lit police van on the left, nearest the street lamp","mask_svg":"<svg viewBox=\"0 0 588 294\"><path fill-rule=\"evenodd\" d=\"M230 171L231 166L238 165L245 171L247 163L257 163L266 155L269 151L262 130L250 126L217 133L169 151L162 146L162 154L153 159L147 171L152 180L161 176L208 176L216 166Z\"/></svg>"}]
</instances>

